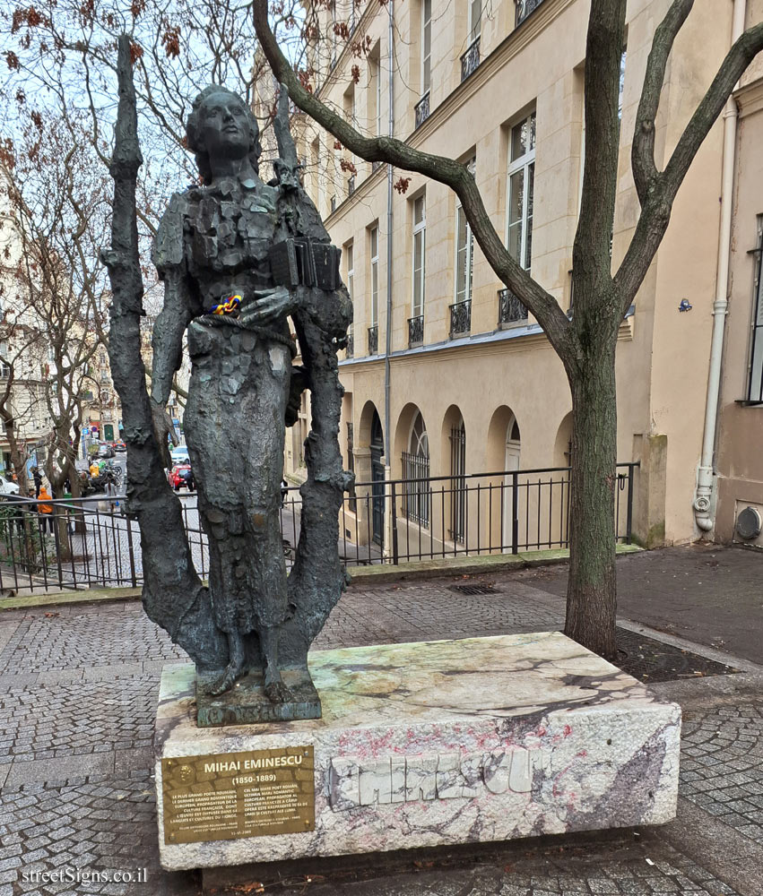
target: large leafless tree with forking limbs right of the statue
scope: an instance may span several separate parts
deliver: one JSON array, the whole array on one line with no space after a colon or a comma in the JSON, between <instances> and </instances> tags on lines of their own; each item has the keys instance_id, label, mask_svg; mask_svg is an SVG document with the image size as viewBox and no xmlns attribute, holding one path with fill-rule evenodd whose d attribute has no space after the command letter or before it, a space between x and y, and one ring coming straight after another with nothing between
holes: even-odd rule
<instances>
[{"instance_id":1,"label":"large leafless tree with forking limbs right of the statue","mask_svg":"<svg viewBox=\"0 0 763 896\"><path fill-rule=\"evenodd\" d=\"M317 4L318 6L321 3ZM325 5L325 4L323 4ZM570 571L566 633L604 657L615 655L616 482L615 349L623 315L655 257L672 204L701 143L750 62L763 48L763 23L738 39L698 105L665 168L655 164L655 117L673 42L694 0L673 0L655 31L637 112L632 169L641 212L628 251L611 271L610 239L620 146L618 94L625 39L626 0L592 0L585 53L585 168L573 246L572 319L556 299L508 253L493 227L474 177L443 156L418 151L391 137L368 137L311 90L309 70L295 71L274 30L293 27L282 4L253 4L259 45L290 99L349 151L367 161L416 171L450 186L464 207L493 271L532 312L564 365L572 392ZM337 26L334 25L334 34ZM341 29L339 33L342 33ZM306 35L307 39L310 34ZM357 37L353 39L357 40Z\"/></svg>"}]
</instances>

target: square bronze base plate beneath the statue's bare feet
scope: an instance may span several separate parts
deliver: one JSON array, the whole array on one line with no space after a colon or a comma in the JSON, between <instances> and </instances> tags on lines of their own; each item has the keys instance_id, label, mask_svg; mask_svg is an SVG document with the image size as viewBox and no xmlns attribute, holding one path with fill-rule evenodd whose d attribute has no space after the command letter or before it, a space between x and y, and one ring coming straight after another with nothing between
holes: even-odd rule
<instances>
[{"instance_id":1,"label":"square bronze base plate beneath the statue's bare feet","mask_svg":"<svg viewBox=\"0 0 763 896\"><path fill-rule=\"evenodd\" d=\"M320 698L307 669L282 669L283 683L289 688L293 698L282 703L271 702L264 693L261 672L250 672L239 678L230 691L213 697L207 692L219 674L196 671L196 724L199 728L290 722L321 717Z\"/></svg>"}]
</instances>

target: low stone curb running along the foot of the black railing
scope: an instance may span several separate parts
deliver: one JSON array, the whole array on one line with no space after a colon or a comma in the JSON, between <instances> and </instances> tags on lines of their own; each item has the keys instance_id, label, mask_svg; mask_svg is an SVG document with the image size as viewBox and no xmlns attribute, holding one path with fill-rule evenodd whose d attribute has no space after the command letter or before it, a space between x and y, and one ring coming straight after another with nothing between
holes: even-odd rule
<instances>
[{"instance_id":1,"label":"low stone curb running along the foot of the black railing","mask_svg":"<svg viewBox=\"0 0 763 896\"><path fill-rule=\"evenodd\" d=\"M637 545L618 545L617 555L641 553ZM490 554L476 557L446 557L423 563L406 563L399 566L376 564L351 566L351 585L369 585L377 582L415 582L434 579L442 575L501 573L510 569L527 569L532 566L551 566L567 563L568 550L530 551L524 554ZM357 572L356 572L357 570ZM69 604L105 604L118 600L140 600L142 588L100 588L73 591L54 591L44 594L16 595L0 598L0 612L4 610L35 609L37 607L63 607Z\"/></svg>"}]
</instances>

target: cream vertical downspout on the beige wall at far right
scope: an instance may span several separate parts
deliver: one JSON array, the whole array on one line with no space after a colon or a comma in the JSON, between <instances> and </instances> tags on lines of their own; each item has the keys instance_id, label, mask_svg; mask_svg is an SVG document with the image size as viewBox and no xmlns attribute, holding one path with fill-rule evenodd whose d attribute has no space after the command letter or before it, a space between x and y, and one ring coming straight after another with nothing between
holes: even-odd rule
<instances>
[{"instance_id":1,"label":"cream vertical downspout on the beige wall at far right","mask_svg":"<svg viewBox=\"0 0 763 896\"><path fill-rule=\"evenodd\" d=\"M733 0L732 44L744 30L746 0ZM724 162L721 187L721 230L718 238L718 266L713 303L713 336L710 345L710 369L707 376L705 435L697 470L694 492L694 518L698 529L709 532L715 526L713 492L715 487L715 434L718 422L718 398L724 355L724 328L729 307L729 260L731 256L734 157L739 109L729 97L724 109Z\"/></svg>"}]
</instances>

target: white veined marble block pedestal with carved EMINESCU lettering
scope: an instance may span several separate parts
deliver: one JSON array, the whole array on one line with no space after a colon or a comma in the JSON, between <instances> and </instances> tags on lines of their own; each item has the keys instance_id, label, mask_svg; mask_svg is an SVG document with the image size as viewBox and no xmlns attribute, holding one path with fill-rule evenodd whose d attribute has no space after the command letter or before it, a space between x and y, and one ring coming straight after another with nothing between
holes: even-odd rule
<instances>
[{"instance_id":1,"label":"white veined marble block pedestal with carved EMINESCU lettering","mask_svg":"<svg viewBox=\"0 0 763 896\"><path fill-rule=\"evenodd\" d=\"M227 728L196 727L192 665L164 668L155 737L163 867L509 840L675 815L681 709L560 633L316 651L309 665L323 718ZM309 747L310 830L165 842L162 759Z\"/></svg>"}]
</instances>

